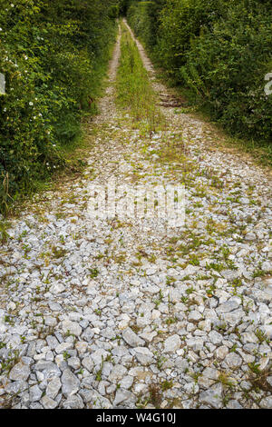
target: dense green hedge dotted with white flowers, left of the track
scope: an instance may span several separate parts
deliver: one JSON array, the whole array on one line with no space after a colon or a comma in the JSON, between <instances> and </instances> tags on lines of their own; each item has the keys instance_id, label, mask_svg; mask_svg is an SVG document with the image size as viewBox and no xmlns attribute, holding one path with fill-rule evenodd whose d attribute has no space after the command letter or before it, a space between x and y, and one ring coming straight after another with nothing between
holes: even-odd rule
<instances>
[{"instance_id":1,"label":"dense green hedge dotted with white flowers, left of the track","mask_svg":"<svg viewBox=\"0 0 272 427\"><path fill-rule=\"evenodd\" d=\"M2 0L0 210L63 164L62 146L80 134L82 114L95 111L116 4Z\"/></svg>"}]
</instances>

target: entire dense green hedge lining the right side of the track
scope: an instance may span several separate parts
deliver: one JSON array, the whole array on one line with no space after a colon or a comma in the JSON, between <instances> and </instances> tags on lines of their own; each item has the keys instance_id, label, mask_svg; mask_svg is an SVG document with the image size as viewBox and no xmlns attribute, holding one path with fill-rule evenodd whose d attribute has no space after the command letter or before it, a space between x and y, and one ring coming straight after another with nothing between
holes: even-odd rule
<instances>
[{"instance_id":1,"label":"entire dense green hedge lining the right side of the track","mask_svg":"<svg viewBox=\"0 0 272 427\"><path fill-rule=\"evenodd\" d=\"M230 134L265 146L272 164L271 2L130 3L128 21L152 60Z\"/></svg>"}]
</instances>

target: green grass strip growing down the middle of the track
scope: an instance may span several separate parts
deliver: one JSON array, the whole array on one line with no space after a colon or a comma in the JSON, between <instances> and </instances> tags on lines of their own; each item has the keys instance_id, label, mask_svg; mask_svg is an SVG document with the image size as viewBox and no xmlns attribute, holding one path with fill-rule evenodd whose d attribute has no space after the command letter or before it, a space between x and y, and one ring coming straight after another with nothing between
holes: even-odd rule
<instances>
[{"instance_id":1,"label":"green grass strip growing down the middle of the track","mask_svg":"<svg viewBox=\"0 0 272 427\"><path fill-rule=\"evenodd\" d=\"M149 75L144 68L138 47L123 23L121 24L121 60L117 74L117 104L130 111L143 129L155 132L163 125L160 109L156 105Z\"/></svg>"}]
</instances>

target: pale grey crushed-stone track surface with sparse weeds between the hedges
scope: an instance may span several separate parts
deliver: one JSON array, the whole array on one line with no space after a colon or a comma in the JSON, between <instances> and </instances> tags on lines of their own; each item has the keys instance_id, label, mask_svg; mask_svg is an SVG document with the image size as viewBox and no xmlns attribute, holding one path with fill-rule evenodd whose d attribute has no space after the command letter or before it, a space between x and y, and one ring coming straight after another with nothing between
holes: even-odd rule
<instances>
[{"instance_id":1,"label":"pale grey crushed-stone track surface with sparse weeds between the hedges","mask_svg":"<svg viewBox=\"0 0 272 427\"><path fill-rule=\"evenodd\" d=\"M174 109L143 136L114 108L119 55L83 176L1 246L0 405L271 408L271 181ZM185 226L92 220L88 184L112 176L185 183Z\"/></svg>"}]
</instances>

